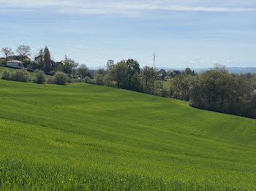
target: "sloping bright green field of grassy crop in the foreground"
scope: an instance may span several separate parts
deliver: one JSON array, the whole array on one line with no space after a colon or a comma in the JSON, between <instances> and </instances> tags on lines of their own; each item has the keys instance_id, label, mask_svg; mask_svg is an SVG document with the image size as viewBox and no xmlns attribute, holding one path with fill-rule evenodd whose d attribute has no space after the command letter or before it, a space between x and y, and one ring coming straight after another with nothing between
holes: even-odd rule
<instances>
[{"instance_id":1,"label":"sloping bright green field of grassy crop in the foreground","mask_svg":"<svg viewBox=\"0 0 256 191\"><path fill-rule=\"evenodd\" d=\"M0 190L256 190L256 120L0 80Z\"/></svg>"}]
</instances>

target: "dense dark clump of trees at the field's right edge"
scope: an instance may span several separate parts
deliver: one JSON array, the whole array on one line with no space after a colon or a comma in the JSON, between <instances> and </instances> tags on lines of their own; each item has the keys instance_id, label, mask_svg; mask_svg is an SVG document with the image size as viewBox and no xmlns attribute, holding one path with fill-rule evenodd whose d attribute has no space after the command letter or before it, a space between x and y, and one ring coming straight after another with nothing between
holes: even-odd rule
<instances>
[{"instance_id":1,"label":"dense dark clump of trees at the field's right edge","mask_svg":"<svg viewBox=\"0 0 256 191\"><path fill-rule=\"evenodd\" d=\"M212 69L189 83L191 106L256 118L256 75Z\"/></svg>"}]
</instances>

